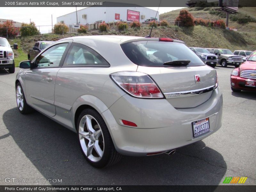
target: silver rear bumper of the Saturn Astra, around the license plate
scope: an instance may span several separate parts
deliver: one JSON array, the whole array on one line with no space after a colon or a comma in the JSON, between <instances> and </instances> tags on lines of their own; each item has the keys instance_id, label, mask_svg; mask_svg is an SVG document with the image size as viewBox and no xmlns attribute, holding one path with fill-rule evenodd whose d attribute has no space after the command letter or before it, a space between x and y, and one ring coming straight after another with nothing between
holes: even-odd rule
<instances>
[{"instance_id":1,"label":"silver rear bumper of the Saturn Astra, around the license plate","mask_svg":"<svg viewBox=\"0 0 256 192\"><path fill-rule=\"evenodd\" d=\"M173 108L165 99L146 100L124 95L102 116L116 150L129 156L146 156L202 140L221 127L222 94L217 88L209 100L195 108ZM210 132L193 138L192 122L209 117ZM138 127L125 126L120 119Z\"/></svg>"}]
</instances>

